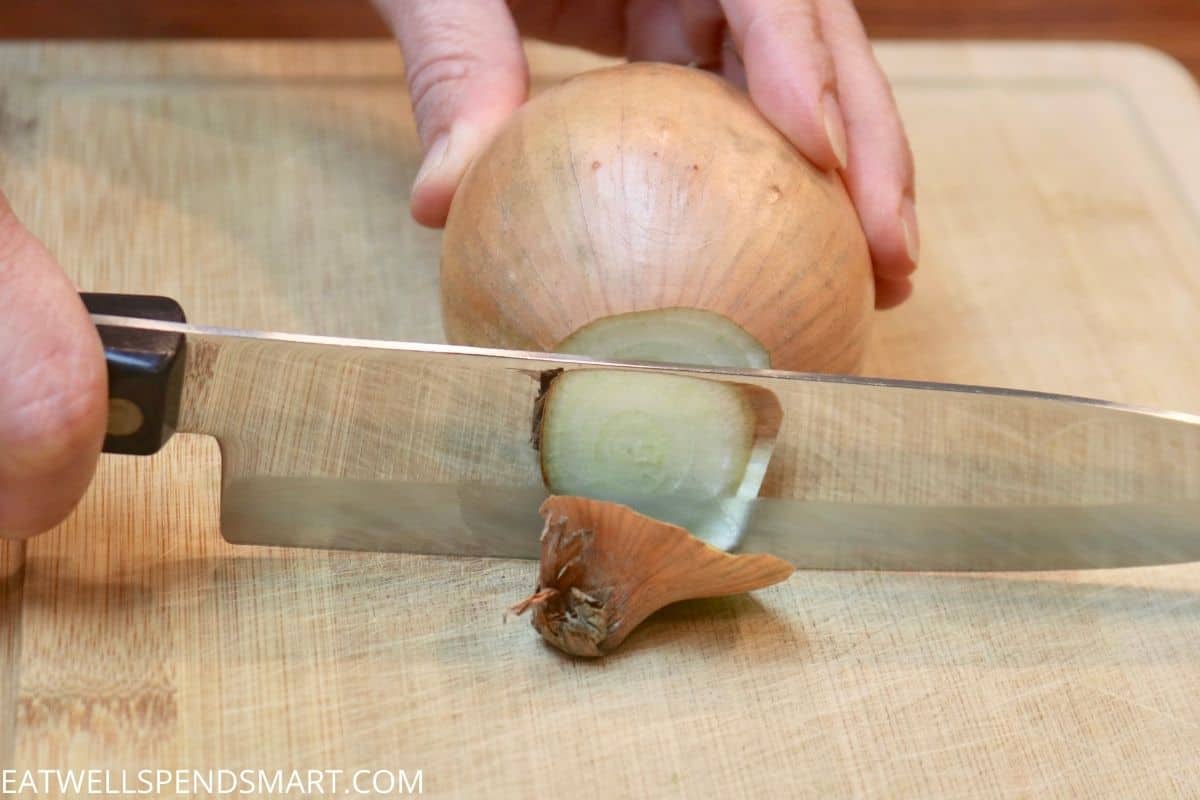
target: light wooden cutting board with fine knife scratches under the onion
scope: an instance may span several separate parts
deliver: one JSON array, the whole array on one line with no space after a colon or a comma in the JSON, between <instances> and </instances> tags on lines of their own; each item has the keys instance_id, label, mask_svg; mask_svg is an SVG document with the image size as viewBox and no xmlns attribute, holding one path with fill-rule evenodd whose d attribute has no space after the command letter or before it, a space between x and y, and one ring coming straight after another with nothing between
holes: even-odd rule
<instances>
[{"instance_id":1,"label":"light wooden cutting board with fine knife scratches under the onion","mask_svg":"<svg viewBox=\"0 0 1200 800\"><path fill-rule=\"evenodd\" d=\"M1200 411L1200 92L1112 44L881 43L913 299L868 372ZM535 85L599 64L530 47ZM83 288L440 341L390 43L0 47L0 186ZM214 441L0 549L0 766L404 769L434 796L1200 793L1200 566L799 572L577 662L524 561L236 548Z\"/></svg>"}]
</instances>

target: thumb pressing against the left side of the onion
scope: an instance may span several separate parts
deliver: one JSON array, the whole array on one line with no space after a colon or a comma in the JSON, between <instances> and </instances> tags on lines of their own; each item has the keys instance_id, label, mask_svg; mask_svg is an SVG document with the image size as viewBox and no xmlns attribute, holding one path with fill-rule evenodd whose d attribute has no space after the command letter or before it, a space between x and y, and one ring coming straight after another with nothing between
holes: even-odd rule
<instances>
[{"instance_id":1,"label":"thumb pressing against the left side of the onion","mask_svg":"<svg viewBox=\"0 0 1200 800\"><path fill-rule=\"evenodd\" d=\"M400 41L425 149L413 217L440 227L472 160L528 95L521 40L503 0L377 5Z\"/></svg>"}]
</instances>

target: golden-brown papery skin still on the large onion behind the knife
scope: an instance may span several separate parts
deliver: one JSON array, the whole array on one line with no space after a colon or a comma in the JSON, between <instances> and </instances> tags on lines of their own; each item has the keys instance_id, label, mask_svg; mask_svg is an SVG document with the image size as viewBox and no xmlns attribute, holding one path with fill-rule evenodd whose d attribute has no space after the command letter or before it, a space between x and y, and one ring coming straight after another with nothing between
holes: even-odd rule
<instances>
[{"instance_id":1,"label":"golden-brown papery skin still on the large onion behind the knife","mask_svg":"<svg viewBox=\"0 0 1200 800\"><path fill-rule=\"evenodd\" d=\"M664 64L587 72L522 107L458 187L440 269L448 339L520 350L698 308L773 368L853 373L875 305L840 176L736 88Z\"/></svg>"}]
</instances>

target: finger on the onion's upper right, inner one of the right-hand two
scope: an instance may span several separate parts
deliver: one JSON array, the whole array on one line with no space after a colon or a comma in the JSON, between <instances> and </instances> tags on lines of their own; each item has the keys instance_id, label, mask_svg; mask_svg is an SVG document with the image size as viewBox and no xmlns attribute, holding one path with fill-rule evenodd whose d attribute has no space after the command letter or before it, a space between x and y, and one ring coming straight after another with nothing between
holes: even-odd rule
<instances>
[{"instance_id":1,"label":"finger on the onion's upper right, inner one of the right-hand two","mask_svg":"<svg viewBox=\"0 0 1200 800\"><path fill-rule=\"evenodd\" d=\"M846 162L833 60L814 0L721 0L750 97L822 169Z\"/></svg>"}]
</instances>

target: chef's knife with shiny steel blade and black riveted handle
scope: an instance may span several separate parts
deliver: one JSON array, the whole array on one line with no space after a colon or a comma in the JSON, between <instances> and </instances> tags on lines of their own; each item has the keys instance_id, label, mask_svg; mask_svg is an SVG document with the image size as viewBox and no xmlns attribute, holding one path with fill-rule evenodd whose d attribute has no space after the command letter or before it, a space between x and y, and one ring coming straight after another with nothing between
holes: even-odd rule
<instances>
[{"instance_id":1,"label":"chef's knife with shiny steel blade and black riveted handle","mask_svg":"<svg viewBox=\"0 0 1200 800\"><path fill-rule=\"evenodd\" d=\"M1082 570L1200 560L1200 416L983 386L605 362L192 325L173 300L85 294L109 453L220 443L235 543L536 558L533 408L559 371L769 392L749 495L640 510L800 569Z\"/></svg>"}]
</instances>

